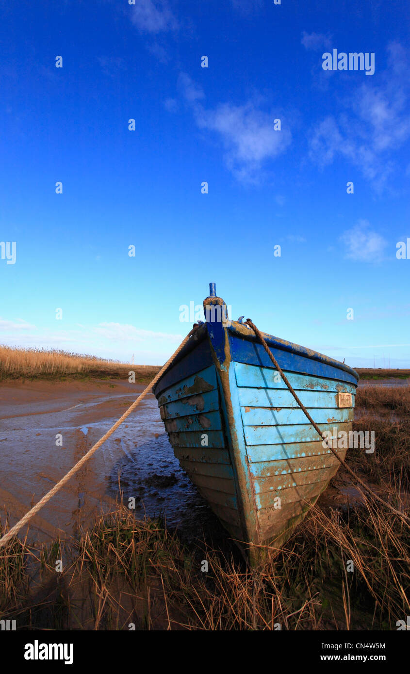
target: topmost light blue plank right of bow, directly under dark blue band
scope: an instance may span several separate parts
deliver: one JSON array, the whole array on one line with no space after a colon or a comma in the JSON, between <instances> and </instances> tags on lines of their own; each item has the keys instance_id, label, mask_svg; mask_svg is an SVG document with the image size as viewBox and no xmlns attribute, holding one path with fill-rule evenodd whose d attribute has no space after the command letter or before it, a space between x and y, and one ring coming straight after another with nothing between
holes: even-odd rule
<instances>
[{"instance_id":1,"label":"topmost light blue plank right of bow, directly under dark blue band","mask_svg":"<svg viewBox=\"0 0 410 674\"><path fill-rule=\"evenodd\" d=\"M238 386L258 387L258 388L283 388L287 389L285 381L280 377L276 369L270 367L258 367L257 365L247 365L247 363L235 363L235 377ZM295 391L346 391L355 393L356 387L348 384L346 381L338 379L324 379L323 377L310 377L293 372L285 372L289 383ZM279 377L279 381L277 381Z\"/></svg>"}]
</instances>

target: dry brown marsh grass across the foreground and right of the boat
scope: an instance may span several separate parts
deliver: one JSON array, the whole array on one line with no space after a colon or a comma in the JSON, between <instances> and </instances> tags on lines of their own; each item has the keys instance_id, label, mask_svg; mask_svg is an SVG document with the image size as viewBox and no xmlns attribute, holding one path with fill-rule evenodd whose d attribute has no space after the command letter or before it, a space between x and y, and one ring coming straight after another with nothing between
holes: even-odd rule
<instances>
[{"instance_id":1,"label":"dry brown marsh grass across the foreground and right of the boat","mask_svg":"<svg viewBox=\"0 0 410 674\"><path fill-rule=\"evenodd\" d=\"M367 410L383 402L400 421L361 417L355 429L376 424L376 452L351 450L349 462L405 510L409 409L395 390L381 396L358 399ZM229 546L209 537L183 545L166 522L137 521L119 502L76 541L12 541L0 559L0 619L20 629L396 630L410 615L409 551L409 528L363 493L354 506L316 505L254 570ZM65 560L60 574L56 559Z\"/></svg>"}]
</instances>

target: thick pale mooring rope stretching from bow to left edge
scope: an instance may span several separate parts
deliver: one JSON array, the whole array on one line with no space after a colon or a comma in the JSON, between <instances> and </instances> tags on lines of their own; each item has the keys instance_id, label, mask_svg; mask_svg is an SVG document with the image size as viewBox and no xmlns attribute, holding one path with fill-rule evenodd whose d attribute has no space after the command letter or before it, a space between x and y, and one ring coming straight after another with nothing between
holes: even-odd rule
<instances>
[{"instance_id":1,"label":"thick pale mooring rope stretching from bow to left edge","mask_svg":"<svg viewBox=\"0 0 410 674\"><path fill-rule=\"evenodd\" d=\"M92 455L96 452L96 450L98 450L98 448L100 448L100 446L110 437L110 435L113 435L114 431L116 431L117 428L119 426L121 426L121 423L123 423L123 421L125 421L125 419L127 419L127 417L129 417L131 412L133 412L135 410L136 406L138 404L140 404L141 400L143 398L145 398L145 396L150 392L150 390L152 389L154 384L156 384L158 379L163 375L163 372L165 371L165 369L167 369L167 367L169 367L169 365L171 365L171 363L175 360L175 358L177 357L177 355L179 354L181 349L185 346L185 344L187 343L189 338L194 334L194 332L196 332L196 330L198 330L198 326L194 327L191 330L191 332L189 332L189 334L187 334L185 339L181 342L181 344L179 344L175 353L173 353L171 358L167 361L167 363L165 363L164 367L162 367L160 369L158 374L156 374L154 379L152 379L152 381L144 389L142 394L140 394L140 396L138 396L138 398L136 400L134 400L134 402L129 406L129 408L126 410L126 412L124 412L122 417L120 417L120 419L118 419L118 421L116 421L115 424L113 426L111 426L109 431L107 431L107 433L105 433L105 435L103 435L103 437L100 437L98 442L96 442L95 445L93 445L92 448L90 450L88 450L88 452L86 454L84 454L84 456L82 456L82 458L80 458L80 460L76 463L76 465L73 466L71 468L71 470L69 470L67 472L67 474L65 474L64 477L61 478L61 480L59 482L57 482L56 485L54 485L53 489L50 489L50 491L48 491L47 494L45 494L42 497L42 499L40 499L40 501L38 501L38 503L36 503L36 505L34 505L34 507L31 508L31 510L26 512L24 517L22 517L22 519L19 520L17 522L17 524L15 524L13 527L11 527L11 529L9 531L7 531L7 534L5 534L0 539L0 547L3 547L3 545L5 545L13 536L15 536L20 531L20 529L24 526L24 524L27 524L27 522L29 520L31 520L31 518L42 508L42 506L45 505L47 503L47 501L49 501L51 498L53 498L53 496L57 493L57 491L59 491L59 489L61 489L61 487L63 487L65 485L65 483L67 483L69 481L69 479L74 475L74 473L76 473L78 470L80 470L80 468L86 463L86 461L88 461L88 459L90 459L92 457Z\"/></svg>"}]
</instances>

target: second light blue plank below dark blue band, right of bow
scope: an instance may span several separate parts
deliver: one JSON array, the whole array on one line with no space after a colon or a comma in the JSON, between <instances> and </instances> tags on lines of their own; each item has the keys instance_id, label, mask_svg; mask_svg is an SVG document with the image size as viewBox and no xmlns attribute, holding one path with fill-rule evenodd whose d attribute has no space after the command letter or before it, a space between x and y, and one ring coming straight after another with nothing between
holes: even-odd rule
<instances>
[{"instance_id":1,"label":"second light blue plank below dark blue band, right of bow","mask_svg":"<svg viewBox=\"0 0 410 674\"><path fill-rule=\"evenodd\" d=\"M238 388L238 396L241 406L246 407L299 407L289 390L273 388ZM297 396L306 408L337 408L336 393L327 391L299 391Z\"/></svg>"}]
</instances>

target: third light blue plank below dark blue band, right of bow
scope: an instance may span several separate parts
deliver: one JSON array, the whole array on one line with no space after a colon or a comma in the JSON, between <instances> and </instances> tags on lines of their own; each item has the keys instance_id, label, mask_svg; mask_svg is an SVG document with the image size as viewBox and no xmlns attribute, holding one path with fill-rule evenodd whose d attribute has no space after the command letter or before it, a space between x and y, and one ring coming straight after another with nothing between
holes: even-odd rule
<instances>
[{"instance_id":1,"label":"third light blue plank below dark blue band, right of bow","mask_svg":"<svg viewBox=\"0 0 410 674\"><path fill-rule=\"evenodd\" d=\"M353 408L307 408L316 423L342 423L353 421ZM300 407L241 407L244 426L280 426L307 423L307 417Z\"/></svg>"}]
</instances>

